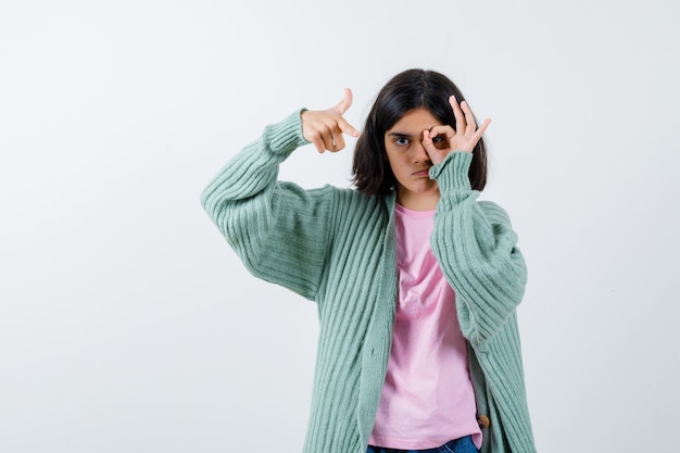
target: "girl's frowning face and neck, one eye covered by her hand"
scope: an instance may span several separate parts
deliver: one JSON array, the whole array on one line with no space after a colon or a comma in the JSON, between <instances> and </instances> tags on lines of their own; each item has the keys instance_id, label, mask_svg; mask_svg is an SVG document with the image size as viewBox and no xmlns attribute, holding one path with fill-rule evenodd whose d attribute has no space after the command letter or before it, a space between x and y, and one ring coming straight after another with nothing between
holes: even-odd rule
<instances>
[{"instance_id":1,"label":"girl's frowning face and neck, one eye covered by her hand","mask_svg":"<svg viewBox=\"0 0 680 453\"><path fill-rule=\"evenodd\" d=\"M404 114L385 133L385 149L396 178L396 201L414 211L437 207L439 187L430 179L430 158L423 148L423 131L442 124L427 110L418 108Z\"/></svg>"}]
</instances>

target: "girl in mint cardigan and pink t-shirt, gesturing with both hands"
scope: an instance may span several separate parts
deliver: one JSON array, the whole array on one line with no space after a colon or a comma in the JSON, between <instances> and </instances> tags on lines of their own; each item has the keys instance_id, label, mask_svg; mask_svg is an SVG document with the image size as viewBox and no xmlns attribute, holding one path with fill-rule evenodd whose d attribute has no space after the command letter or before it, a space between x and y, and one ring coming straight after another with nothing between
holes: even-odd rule
<instances>
[{"instance_id":1,"label":"girl in mint cardigan and pink t-shirt, gesturing with both hands","mask_svg":"<svg viewBox=\"0 0 680 453\"><path fill-rule=\"evenodd\" d=\"M317 303L304 452L534 452L516 307L517 236L486 184L482 134L456 86L410 70L362 134L326 111L265 127L211 181L205 211L255 276ZM356 189L277 180L297 148L358 137Z\"/></svg>"}]
</instances>

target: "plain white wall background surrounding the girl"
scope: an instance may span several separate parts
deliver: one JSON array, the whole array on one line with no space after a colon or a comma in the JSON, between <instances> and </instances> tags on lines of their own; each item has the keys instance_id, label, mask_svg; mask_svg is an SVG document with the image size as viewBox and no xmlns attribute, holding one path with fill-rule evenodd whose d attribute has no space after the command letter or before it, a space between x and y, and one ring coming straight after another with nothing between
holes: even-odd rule
<instances>
[{"instance_id":1,"label":"plain white wall background surrounding the girl","mask_svg":"<svg viewBox=\"0 0 680 453\"><path fill-rule=\"evenodd\" d=\"M529 265L539 450L676 451L679 17L672 0L0 0L0 451L300 451L315 306L247 274L199 194L344 87L361 128L408 67L493 119L482 198ZM281 177L347 187L349 143Z\"/></svg>"}]
</instances>

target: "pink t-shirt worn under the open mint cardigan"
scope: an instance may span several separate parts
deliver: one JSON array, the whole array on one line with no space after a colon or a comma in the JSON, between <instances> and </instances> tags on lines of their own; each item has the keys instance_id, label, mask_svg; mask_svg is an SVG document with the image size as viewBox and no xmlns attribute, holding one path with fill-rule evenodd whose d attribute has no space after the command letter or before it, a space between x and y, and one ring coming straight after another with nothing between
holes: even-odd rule
<instances>
[{"instance_id":1,"label":"pink t-shirt worn under the open mint cardigan","mask_svg":"<svg viewBox=\"0 0 680 453\"><path fill-rule=\"evenodd\" d=\"M481 446L455 293L430 247L435 211L395 205L399 305L372 445L419 450L473 435Z\"/></svg>"}]
</instances>

